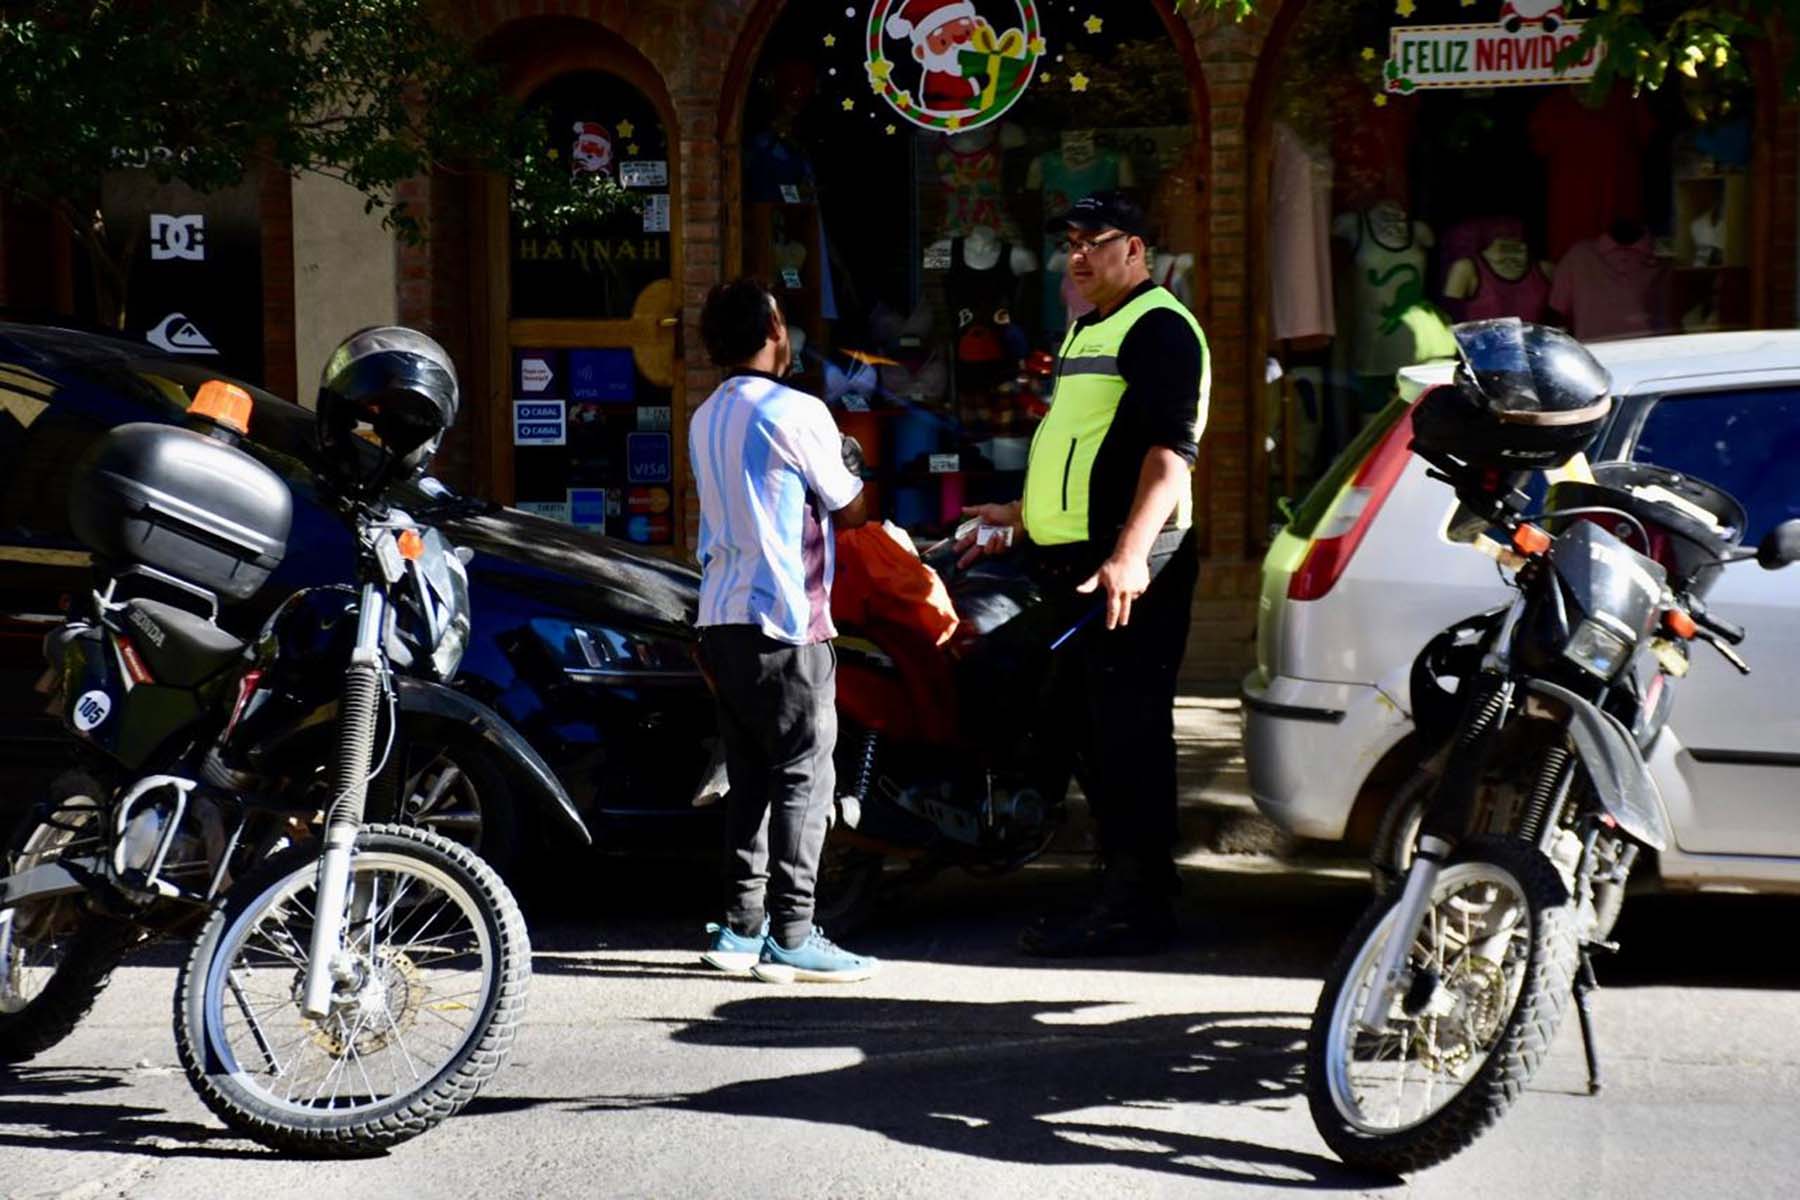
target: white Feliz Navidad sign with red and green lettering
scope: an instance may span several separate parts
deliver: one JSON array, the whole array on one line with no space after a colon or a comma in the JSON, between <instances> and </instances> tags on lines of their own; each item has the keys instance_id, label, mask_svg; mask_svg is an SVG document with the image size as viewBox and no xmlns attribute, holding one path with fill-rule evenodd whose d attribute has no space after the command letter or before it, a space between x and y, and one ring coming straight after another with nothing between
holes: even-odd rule
<instances>
[{"instance_id":1,"label":"white Feliz Navidad sign with red and green lettering","mask_svg":"<svg viewBox=\"0 0 1800 1200\"><path fill-rule=\"evenodd\" d=\"M1557 58L1580 40L1582 22L1562 20L1561 0L1505 0L1499 20L1474 25L1395 25L1381 77L1388 92L1510 88L1593 79L1600 49L1564 68Z\"/></svg>"}]
</instances>

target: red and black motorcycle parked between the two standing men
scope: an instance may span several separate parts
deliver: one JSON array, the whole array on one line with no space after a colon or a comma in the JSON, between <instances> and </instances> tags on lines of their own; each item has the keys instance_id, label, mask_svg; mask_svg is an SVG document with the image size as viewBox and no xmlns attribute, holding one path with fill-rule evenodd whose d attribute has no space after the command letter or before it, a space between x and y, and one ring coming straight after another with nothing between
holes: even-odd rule
<instances>
[{"instance_id":1,"label":"red and black motorcycle parked between the two standing men","mask_svg":"<svg viewBox=\"0 0 1800 1200\"><path fill-rule=\"evenodd\" d=\"M965 531L959 531L965 533ZM1067 817L1078 763L1046 687L1057 653L1103 613L1044 596L1019 556L959 569L956 538L922 551L959 624L938 646L896 621L837 639L839 797L817 919L850 930L898 883L945 867L992 878L1039 858Z\"/></svg>"}]
</instances>

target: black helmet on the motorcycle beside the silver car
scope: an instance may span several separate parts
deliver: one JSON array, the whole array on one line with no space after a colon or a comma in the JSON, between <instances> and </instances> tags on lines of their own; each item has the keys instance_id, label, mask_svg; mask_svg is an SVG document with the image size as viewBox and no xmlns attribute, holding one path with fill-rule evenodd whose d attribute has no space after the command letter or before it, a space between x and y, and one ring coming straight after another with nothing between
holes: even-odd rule
<instances>
[{"instance_id":1,"label":"black helmet on the motorcycle beside the silver car","mask_svg":"<svg viewBox=\"0 0 1800 1200\"><path fill-rule=\"evenodd\" d=\"M1517 317L1472 320L1456 336L1456 376L1413 412L1413 448L1463 468L1543 471L1600 432L1613 381L1580 342Z\"/></svg>"}]
</instances>

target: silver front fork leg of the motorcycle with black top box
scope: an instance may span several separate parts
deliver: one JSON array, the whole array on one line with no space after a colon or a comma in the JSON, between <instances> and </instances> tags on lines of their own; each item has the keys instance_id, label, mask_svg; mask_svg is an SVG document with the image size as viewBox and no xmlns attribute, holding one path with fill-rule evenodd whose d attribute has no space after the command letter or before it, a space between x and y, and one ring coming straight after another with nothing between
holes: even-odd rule
<instances>
[{"instance_id":1,"label":"silver front fork leg of the motorcycle with black top box","mask_svg":"<svg viewBox=\"0 0 1800 1200\"><path fill-rule=\"evenodd\" d=\"M356 615L356 648L351 651L338 714L338 754L331 779L331 808L326 811L324 853L319 856L319 905L313 914L311 954L306 959L306 986L301 1011L315 1020L331 1011L337 984L355 979L355 961L344 945L347 919L365 914L353 909L349 867L369 799L369 766L374 763L374 734L387 658L382 653L387 628L387 599L365 583ZM358 896L362 907L367 896Z\"/></svg>"}]
</instances>

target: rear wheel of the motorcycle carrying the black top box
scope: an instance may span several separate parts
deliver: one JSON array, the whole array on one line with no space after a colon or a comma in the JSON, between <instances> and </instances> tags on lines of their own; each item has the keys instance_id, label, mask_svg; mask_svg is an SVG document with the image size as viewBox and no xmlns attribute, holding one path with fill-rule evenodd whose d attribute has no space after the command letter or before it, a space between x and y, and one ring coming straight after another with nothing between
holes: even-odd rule
<instances>
[{"instance_id":1,"label":"rear wheel of the motorcycle carrying the black top box","mask_svg":"<svg viewBox=\"0 0 1800 1200\"><path fill-rule=\"evenodd\" d=\"M99 849L99 784L81 774L50 784L45 810L27 817L5 856L7 873ZM0 1063L23 1063L50 1049L88 1015L135 930L86 909L81 894L13 907L0 939Z\"/></svg>"}]
</instances>

